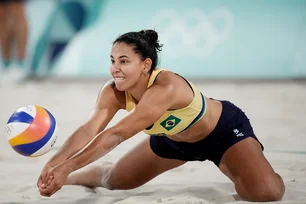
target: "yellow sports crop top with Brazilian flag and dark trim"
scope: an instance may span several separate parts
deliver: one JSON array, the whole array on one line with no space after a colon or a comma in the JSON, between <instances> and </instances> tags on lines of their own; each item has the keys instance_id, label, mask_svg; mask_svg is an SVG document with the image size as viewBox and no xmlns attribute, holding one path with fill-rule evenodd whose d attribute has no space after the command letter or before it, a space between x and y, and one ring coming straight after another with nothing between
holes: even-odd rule
<instances>
[{"instance_id":1,"label":"yellow sports crop top with Brazilian flag and dark trim","mask_svg":"<svg viewBox=\"0 0 306 204\"><path fill-rule=\"evenodd\" d=\"M157 75L162 71L163 69L153 70L149 79L148 88L152 86ZM192 102L182 109L166 111L154 124L143 130L145 133L157 136L175 135L191 127L204 116L206 111L205 98L195 85L185 78L183 79L193 90L194 98ZM130 112L136 107L135 101L127 91L125 91L125 98L126 110Z\"/></svg>"}]
</instances>

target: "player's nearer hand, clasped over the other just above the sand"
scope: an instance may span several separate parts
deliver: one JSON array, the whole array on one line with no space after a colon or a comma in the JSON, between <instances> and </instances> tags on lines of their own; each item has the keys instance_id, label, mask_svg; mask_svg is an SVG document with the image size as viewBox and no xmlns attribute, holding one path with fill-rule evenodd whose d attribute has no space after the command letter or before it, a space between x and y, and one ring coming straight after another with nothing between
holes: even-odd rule
<instances>
[{"instance_id":1,"label":"player's nearer hand, clasped over the other just above the sand","mask_svg":"<svg viewBox=\"0 0 306 204\"><path fill-rule=\"evenodd\" d=\"M56 193L62 188L70 173L71 172L69 171L69 168L67 168L65 163L54 167L51 171L48 172L47 185L42 184L41 186L39 186L40 195L47 197L52 196L54 193Z\"/></svg>"}]
</instances>

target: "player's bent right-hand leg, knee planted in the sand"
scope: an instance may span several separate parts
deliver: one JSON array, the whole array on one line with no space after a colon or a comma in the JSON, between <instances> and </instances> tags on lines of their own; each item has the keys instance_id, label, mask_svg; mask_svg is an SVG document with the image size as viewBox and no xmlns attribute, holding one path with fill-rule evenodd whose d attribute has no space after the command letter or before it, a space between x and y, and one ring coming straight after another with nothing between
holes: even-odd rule
<instances>
[{"instance_id":1,"label":"player's bent right-hand leg, knee planted in the sand","mask_svg":"<svg viewBox=\"0 0 306 204\"><path fill-rule=\"evenodd\" d=\"M260 144L252 137L230 147L224 153L219 168L234 182L243 200L278 201L284 195L282 178L274 172Z\"/></svg>"}]
</instances>

